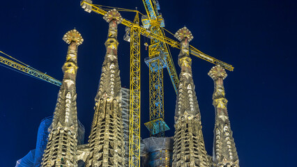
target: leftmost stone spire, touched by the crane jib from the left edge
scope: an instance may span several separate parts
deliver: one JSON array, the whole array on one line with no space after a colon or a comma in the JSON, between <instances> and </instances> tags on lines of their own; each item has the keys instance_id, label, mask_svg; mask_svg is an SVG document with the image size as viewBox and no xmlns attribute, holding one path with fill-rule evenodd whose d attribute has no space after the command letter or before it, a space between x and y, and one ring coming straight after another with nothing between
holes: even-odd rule
<instances>
[{"instance_id":1,"label":"leftmost stone spire, touched by the crane jib from the left edge","mask_svg":"<svg viewBox=\"0 0 297 167\"><path fill-rule=\"evenodd\" d=\"M69 44L61 88L49 128L47 148L41 166L77 166L77 107L75 80L77 74L77 47L82 36L75 29L68 31L63 40Z\"/></svg>"}]
</instances>

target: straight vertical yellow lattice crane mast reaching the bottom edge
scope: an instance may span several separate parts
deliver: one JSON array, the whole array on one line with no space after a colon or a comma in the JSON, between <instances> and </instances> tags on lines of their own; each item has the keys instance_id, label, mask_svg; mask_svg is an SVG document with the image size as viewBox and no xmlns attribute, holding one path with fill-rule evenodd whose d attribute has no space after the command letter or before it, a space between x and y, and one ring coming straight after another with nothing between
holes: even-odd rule
<instances>
[{"instance_id":1,"label":"straight vertical yellow lattice crane mast reaching the bottom edge","mask_svg":"<svg viewBox=\"0 0 297 167\"><path fill-rule=\"evenodd\" d=\"M140 33L139 15L130 30L129 166L140 166Z\"/></svg>"}]
</instances>

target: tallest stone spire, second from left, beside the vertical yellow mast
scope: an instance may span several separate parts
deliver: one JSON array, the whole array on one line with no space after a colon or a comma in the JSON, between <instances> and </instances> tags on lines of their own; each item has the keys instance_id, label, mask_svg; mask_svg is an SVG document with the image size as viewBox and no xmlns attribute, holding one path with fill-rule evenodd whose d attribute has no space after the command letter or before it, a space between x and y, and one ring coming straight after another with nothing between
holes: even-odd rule
<instances>
[{"instance_id":1,"label":"tallest stone spire, second from left, beside the vertical yellow mast","mask_svg":"<svg viewBox=\"0 0 297 167\"><path fill-rule=\"evenodd\" d=\"M91 149L86 160L89 166L125 166L123 120L121 114L121 78L117 57L117 24L123 20L115 9L103 17L109 22L106 54L98 93L95 97L95 113L89 136Z\"/></svg>"}]
</instances>

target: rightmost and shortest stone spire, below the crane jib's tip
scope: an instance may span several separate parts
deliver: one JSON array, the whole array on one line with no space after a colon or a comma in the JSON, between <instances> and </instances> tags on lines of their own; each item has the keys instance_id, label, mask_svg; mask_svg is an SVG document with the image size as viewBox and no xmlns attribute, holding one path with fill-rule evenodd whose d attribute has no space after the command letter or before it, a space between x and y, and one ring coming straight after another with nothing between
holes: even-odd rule
<instances>
[{"instance_id":1,"label":"rightmost and shortest stone spire, below the crane jib's tip","mask_svg":"<svg viewBox=\"0 0 297 167\"><path fill-rule=\"evenodd\" d=\"M213 92L213 106L215 106L213 165L218 167L239 167L239 159L227 113L228 100L224 97L223 80L227 77L227 73L220 65L216 65L211 68L208 75L215 83Z\"/></svg>"}]
</instances>

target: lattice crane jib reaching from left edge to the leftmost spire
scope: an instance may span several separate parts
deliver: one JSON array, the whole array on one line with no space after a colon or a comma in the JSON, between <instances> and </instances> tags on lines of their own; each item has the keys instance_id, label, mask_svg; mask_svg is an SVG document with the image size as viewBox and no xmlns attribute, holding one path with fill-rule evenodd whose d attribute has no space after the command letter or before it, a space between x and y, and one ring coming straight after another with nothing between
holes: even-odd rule
<instances>
[{"instance_id":1,"label":"lattice crane jib reaching from left edge to the leftmost spire","mask_svg":"<svg viewBox=\"0 0 297 167\"><path fill-rule=\"evenodd\" d=\"M0 51L0 53L5 54L3 53L3 51ZM19 72L23 72L23 74L29 74L29 76L34 77L36 79L41 79L43 81L49 82L50 84L61 86L61 81L54 79L53 77L50 77L49 75L44 74L43 72L40 72L38 70L35 70L29 66L21 65L20 63L15 63L14 61L9 60L8 58L4 58L0 56L0 63L3 63L4 65L8 65L9 67L13 67L13 69Z\"/></svg>"}]
</instances>

